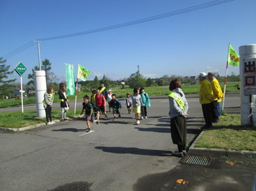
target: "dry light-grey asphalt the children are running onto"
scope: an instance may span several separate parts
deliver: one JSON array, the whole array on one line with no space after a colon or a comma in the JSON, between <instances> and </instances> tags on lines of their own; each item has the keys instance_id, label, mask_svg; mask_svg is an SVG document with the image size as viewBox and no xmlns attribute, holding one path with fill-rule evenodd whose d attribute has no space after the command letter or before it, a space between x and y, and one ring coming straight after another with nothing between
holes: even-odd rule
<instances>
[{"instance_id":1,"label":"dry light-grey asphalt the children are running onto","mask_svg":"<svg viewBox=\"0 0 256 191\"><path fill-rule=\"evenodd\" d=\"M200 132L203 115L198 98L187 96L187 101L190 143ZM144 178L180 165L180 158L171 156L177 148L169 134L168 100L151 103L149 118L138 126L123 108L121 118L112 121L109 114L110 120L92 125L91 134L85 134L82 118L1 133L0 190L145 190L140 184ZM226 98L226 110L239 113L239 96Z\"/></svg>"}]
</instances>

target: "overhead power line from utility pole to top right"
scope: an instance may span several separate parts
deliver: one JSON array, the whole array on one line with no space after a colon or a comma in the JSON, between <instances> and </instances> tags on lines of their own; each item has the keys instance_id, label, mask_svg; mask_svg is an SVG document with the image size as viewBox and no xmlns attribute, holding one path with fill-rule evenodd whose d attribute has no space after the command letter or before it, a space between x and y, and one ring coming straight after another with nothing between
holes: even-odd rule
<instances>
[{"instance_id":1,"label":"overhead power line from utility pole to top right","mask_svg":"<svg viewBox=\"0 0 256 191\"><path fill-rule=\"evenodd\" d=\"M131 21L131 22L125 22L125 23L122 23L122 24L115 24L115 25L112 25L112 26L109 26L109 27L102 27L102 28L99 28L99 29L92 29L92 30L87 30L87 31L84 31L84 32L76 32L76 33L72 33L72 34L64 34L64 35L59 35L59 36L55 36L55 37L41 38L41 39L38 39L38 40L45 41L45 40L52 40L52 39L75 37L75 36L79 36L79 35L92 34L92 33L95 33L95 32L102 32L102 31L117 29L117 28L121 28L121 27L128 27L128 26L131 26L131 25L134 25L134 24L141 24L141 23L144 23L144 22L151 22L151 21L154 21L156 19L163 19L163 18L166 18L166 17L175 16L175 15L178 15L178 14L185 14L185 13L190 12L190 11L196 11L196 10L199 10L199 9L206 9L208 7L211 7L211 6L216 6L216 5L219 5L219 4L225 4L225 3L228 3L230 1L234 1L234 0L211 1L211 2L208 2L208 3L205 3L205 4L199 4L197 6L190 6L190 7L185 8L185 9L180 9L180 10L177 10L177 11L171 11L171 12L168 12L168 13L165 13L165 14L159 14L159 15L156 15L156 16L153 16L153 17L138 19L138 20L134 20L134 21Z\"/></svg>"}]
</instances>

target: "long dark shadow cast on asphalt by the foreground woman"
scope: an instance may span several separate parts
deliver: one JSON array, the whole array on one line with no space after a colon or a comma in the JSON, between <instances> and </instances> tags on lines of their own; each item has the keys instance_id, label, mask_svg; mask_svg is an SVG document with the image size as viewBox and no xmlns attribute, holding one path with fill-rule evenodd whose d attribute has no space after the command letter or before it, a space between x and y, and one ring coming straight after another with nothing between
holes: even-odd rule
<instances>
[{"instance_id":1,"label":"long dark shadow cast on asphalt by the foreground woman","mask_svg":"<svg viewBox=\"0 0 256 191\"><path fill-rule=\"evenodd\" d=\"M154 149L138 149L136 147L119 147L119 146L95 146L95 149L101 149L103 152L111 152L115 154L140 154L157 157L171 156L171 151L162 151Z\"/></svg>"}]
</instances>

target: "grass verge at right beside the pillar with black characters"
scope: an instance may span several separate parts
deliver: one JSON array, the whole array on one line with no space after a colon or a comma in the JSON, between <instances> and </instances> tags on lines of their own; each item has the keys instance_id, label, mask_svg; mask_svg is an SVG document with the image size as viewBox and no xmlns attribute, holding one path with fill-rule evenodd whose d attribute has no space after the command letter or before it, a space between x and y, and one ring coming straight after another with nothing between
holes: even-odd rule
<instances>
[{"instance_id":1,"label":"grass verge at right beside the pillar with black characters","mask_svg":"<svg viewBox=\"0 0 256 191\"><path fill-rule=\"evenodd\" d=\"M256 128L240 125L239 114L226 114L201 136L195 147L256 151Z\"/></svg>"}]
</instances>

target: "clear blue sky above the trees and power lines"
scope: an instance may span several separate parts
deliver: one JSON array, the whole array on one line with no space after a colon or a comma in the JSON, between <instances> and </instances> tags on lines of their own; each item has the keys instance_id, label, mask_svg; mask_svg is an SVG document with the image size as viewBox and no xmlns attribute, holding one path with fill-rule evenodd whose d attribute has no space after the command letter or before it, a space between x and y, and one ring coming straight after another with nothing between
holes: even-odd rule
<instances>
[{"instance_id":1,"label":"clear blue sky above the trees and power lines","mask_svg":"<svg viewBox=\"0 0 256 191\"><path fill-rule=\"evenodd\" d=\"M213 0L0 0L0 57L35 39L74 34L153 17ZM41 40L41 60L65 80L65 63L91 71L87 78L128 78L140 67L146 78L226 73L229 42L239 47L256 43L256 1L234 0L206 9L151 22L69 38ZM6 58L6 57L4 57ZM37 44L6 58L13 70L22 62L27 71L38 66ZM229 66L229 75L239 67ZM10 78L19 78L13 73Z\"/></svg>"}]
</instances>

